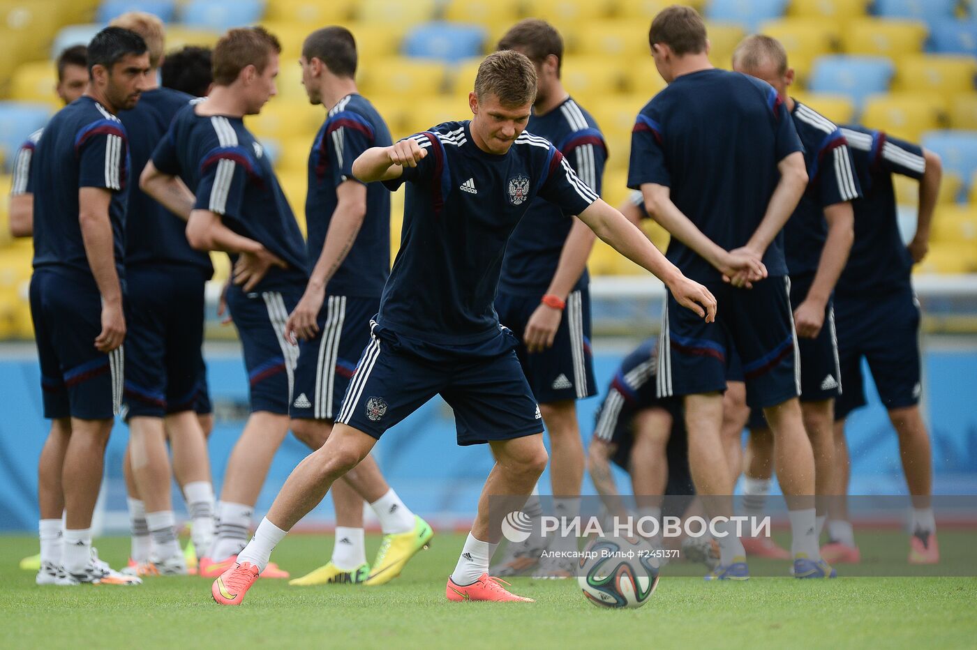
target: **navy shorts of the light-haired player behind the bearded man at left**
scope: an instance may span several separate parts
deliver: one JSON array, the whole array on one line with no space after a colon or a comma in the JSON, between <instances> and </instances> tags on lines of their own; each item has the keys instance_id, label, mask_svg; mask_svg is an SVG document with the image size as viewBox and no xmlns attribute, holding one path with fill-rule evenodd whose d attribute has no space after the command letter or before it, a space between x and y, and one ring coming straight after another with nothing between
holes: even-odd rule
<instances>
[{"instance_id":1,"label":"navy shorts of the light-haired player behind the bearded man at left","mask_svg":"<svg viewBox=\"0 0 977 650\"><path fill-rule=\"evenodd\" d=\"M203 356L207 275L186 264L126 269L127 418L194 410Z\"/></svg>"}]
</instances>

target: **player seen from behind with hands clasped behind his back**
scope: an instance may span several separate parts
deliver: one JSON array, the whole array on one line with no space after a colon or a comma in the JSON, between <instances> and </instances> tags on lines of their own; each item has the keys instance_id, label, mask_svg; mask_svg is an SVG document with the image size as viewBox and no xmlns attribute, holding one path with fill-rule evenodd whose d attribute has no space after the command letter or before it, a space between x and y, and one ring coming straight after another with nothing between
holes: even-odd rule
<instances>
[{"instance_id":1,"label":"player seen from behind with hands clasped behind his back","mask_svg":"<svg viewBox=\"0 0 977 650\"><path fill-rule=\"evenodd\" d=\"M800 369L780 235L807 186L803 147L776 90L712 66L694 9L661 11L649 42L668 86L638 114L628 186L641 189L648 213L672 234L668 259L721 304L716 323L705 324L669 298L658 395L684 397L696 491L710 516L728 516L734 474L720 439L722 391L730 354L739 353L746 401L764 410L777 439L794 575L832 575L815 535L814 458L797 400ZM728 269L730 251L762 268ZM720 519L715 527L721 565L706 578L747 579L743 544L731 523Z\"/></svg>"}]
</instances>

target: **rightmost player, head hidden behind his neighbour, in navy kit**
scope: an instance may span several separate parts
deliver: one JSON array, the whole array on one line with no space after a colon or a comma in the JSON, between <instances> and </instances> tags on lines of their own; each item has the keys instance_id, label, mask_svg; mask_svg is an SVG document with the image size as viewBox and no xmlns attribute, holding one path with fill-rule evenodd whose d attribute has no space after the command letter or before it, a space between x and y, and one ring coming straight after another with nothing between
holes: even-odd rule
<instances>
[{"instance_id":1,"label":"rightmost player, head hidden behind his neighbour, in navy kit","mask_svg":"<svg viewBox=\"0 0 977 650\"><path fill-rule=\"evenodd\" d=\"M849 459L845 419L865 405L862 358L869 363L882 405L899 435L900 457L912 495L909 561L933 564L940 559L931 505L932 452L919 413L919 303L910 274L929 248L930 223L940 189L942 163L933 151L860 126L843 126L865 196L855 201L855 244L834 290L838 354L844 392L835 406L834 494L848 492ZM919 181L916 230L906 246L897 224L892 175ZM837 511L833 508L837 505ZM844 500L832 502L825 556L857 562Z\"/></svg>"}]
</instances>

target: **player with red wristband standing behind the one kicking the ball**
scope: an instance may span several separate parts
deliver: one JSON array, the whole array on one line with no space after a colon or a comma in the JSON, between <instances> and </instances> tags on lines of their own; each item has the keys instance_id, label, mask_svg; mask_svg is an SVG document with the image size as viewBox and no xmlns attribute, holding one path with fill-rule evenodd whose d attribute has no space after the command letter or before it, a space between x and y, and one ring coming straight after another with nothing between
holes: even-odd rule
<instances>
[{"instance_id":1,"label":"player with red wristband standing behind the one kicking the ball","mask_svg":"<svg viewBox=\"0 0 977 650\"><path fill-rule=\"evenodd\" d=\"M502 36L498 49L520 52L535 65L538 88L526 128L553 142L577 177L599 195L607 143L594 119L560 81L563 39L559 32L545 20L522 20ZM594 233L585 223L567 219L559 206L537 196L509 238L495 299L499 322L520 340L516 354L550 435L555 513L568 519L579 513L584 466L575 400L597 394L586 267L593 243ZM531 504L528 509L538 510L538 506ZM513 573L516 567L525 571L535 563L541 550L532 548L535 540L531 536L524 545L509 545L497 574ZM569 550L575 549L576 541L566 536L554 538L554 543ZM535 571L539 576L573 575L571 559L547 557L539 565Z\"/></svg>"}]
</instances>

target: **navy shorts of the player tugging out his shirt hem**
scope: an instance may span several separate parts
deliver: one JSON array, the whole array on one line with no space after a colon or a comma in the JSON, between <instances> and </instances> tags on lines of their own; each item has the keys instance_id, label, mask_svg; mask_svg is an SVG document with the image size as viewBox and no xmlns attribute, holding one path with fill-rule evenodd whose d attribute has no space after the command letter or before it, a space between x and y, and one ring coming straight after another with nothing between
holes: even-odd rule
<instances>
[{"instance_id":1,"label":"navy shorts of the player tugging out his shirt hem","mask_svg":"<svg viewBox=\"0 0 977 650\"><path fill-rule=\"evenodd\" d=\"M251 413L288 415L299 348L285 341L285 323L304 287L293 291L244 291L228 287L228 308L247 369Z\"/></svg>"}]
</instances>

